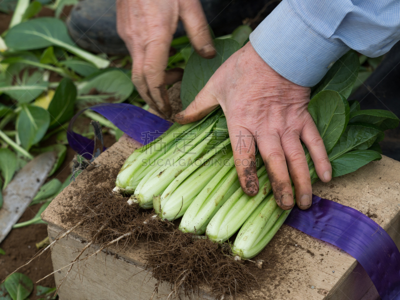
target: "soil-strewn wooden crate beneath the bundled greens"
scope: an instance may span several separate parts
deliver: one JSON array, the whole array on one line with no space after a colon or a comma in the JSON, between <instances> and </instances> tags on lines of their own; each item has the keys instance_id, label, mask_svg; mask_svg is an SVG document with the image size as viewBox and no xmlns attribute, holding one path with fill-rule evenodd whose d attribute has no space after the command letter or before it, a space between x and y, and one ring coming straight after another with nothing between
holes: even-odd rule
<instances>
[{"instance_id":1,"label":"soil-strewn wooden crate beneath the bundled greens","mask_svg":"<svg viewBox=\"0 0 400 300\"><path fill-rule=\"evenodd\" d=\"M179 101L179 85L172 89L170 99ZM179 105L174 105L179 111ZM84 186L96 185L91 178L100 176L102 182L112 185L116 173L126 157L139 143L123 135L118 142L103 152L95 163L98 167L84 170L76 181L66 187L43 212L48 222L48 235L53 240L62 230L71 226L63 215L65 210L81 204ZM329 183L317 182L313 192L321 197L353 207L370 216L382 226L400 246L400 162L383 156L354 173L333 178ZM51 250L54 270L67 265L86 244L87 236L75 230L59 240ZM86 251L92 253L98 245ZM101 254L75 264L59 290L60 300L80 299L143 299L148 300L156 280L144 269L143 248L114 252L104 249ZM267 253L275 253L268 259ZM241 299L302 299L302 300L376 300L378 294L364 269L357 261L339 248L313 238L288 225L283 225L259 257L265 262L259 288L249 295L238 295ZM256 257L257 258L257 257ZM256 259L255 258L255 259ZM57 271L58 284L66 270ZM334 272L333 272L334 271ZM168 284L159 287L154 299L166 298L170 292ZM194 299L212 299L203 286ZM182 299L185 297L182 295Z\"/></svg>"}]
</instances>

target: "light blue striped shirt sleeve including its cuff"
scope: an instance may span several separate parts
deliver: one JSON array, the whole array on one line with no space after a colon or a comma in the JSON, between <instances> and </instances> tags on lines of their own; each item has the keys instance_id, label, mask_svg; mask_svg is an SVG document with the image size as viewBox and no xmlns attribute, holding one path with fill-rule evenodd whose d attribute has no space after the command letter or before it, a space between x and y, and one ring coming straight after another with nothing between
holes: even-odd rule
<instances>
[{"instance_id":1,"label":"light blue striped shirt sleeve including its cuff","mask_svg":"<svg viewBox=\"0 0 400 300\"><path fill-rule=\"evenodd\" d=\"M398 40L399 0L282 0L250 34L258 55L302 86L315 85L350 48L376 57Z\"/></svg>"}]
</instances>

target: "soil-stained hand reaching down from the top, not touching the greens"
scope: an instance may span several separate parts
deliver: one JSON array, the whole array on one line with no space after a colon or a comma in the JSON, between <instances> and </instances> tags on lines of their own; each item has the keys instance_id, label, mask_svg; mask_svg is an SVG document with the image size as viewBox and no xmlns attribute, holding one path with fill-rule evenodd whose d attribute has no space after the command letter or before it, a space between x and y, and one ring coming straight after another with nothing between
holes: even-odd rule
<instances>
[{"instance_id":1,"label":"soil-stained hand reaching down from the top, not touching the greens","mask_svg":"<svg viewBox=\"0 0 400 300\"><path fill-rule=\"evenodd\" d=\"M182 73L164 70L178 19L195 50L206 58L215 56L199 0L117 0L116 14L118 34L133 59L133 84L151 108L169 117L165 85L180 80Z\"/></svg>"}]
</instances>

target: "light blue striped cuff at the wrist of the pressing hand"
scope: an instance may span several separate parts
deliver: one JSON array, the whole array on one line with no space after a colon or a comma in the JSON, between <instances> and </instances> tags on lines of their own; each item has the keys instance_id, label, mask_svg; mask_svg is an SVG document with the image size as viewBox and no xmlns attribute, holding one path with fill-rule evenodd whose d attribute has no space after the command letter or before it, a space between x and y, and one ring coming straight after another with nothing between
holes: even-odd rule
<instances>
[{"instance_id":1,"label":"light blue striped cuff at the wrist of the pressing hand","mask_svg":"<svg viewBox=\"0 0 400 300\"><path fill-rule=\"evenodd\" d=\"M349 47L334 43L308 27L288 0L276 8L250 34L259 56L277 73L301 86L314 86Z\"/></svg>"}]
</instances>

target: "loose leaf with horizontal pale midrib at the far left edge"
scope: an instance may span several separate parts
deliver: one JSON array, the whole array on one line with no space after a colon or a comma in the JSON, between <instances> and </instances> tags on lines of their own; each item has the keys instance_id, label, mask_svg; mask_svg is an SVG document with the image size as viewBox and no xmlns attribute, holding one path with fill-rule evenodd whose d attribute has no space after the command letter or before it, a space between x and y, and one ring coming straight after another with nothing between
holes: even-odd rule
<instances>
[{"instance_id":1,"label":"loose leaf with horizontal pale midrib at the far left edge","mask_svg":"<svg viewBox=\"0 0 400 300\"><path fill-rule=\"evenodd\" d=\"M13 82L13 79L16 82ZM27 103L40 95L47 89L47 82L42 79L42 72L35 71L28 74L28 70L22 73L22 77L6 76L5 80L0 81L0 91L7 94L19 103Z\"/></svg>"}]
</instances>

